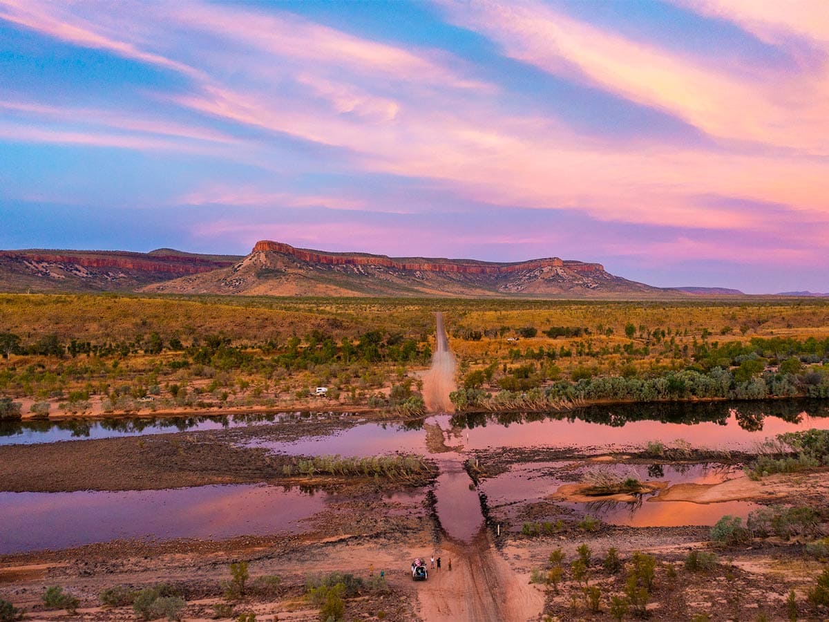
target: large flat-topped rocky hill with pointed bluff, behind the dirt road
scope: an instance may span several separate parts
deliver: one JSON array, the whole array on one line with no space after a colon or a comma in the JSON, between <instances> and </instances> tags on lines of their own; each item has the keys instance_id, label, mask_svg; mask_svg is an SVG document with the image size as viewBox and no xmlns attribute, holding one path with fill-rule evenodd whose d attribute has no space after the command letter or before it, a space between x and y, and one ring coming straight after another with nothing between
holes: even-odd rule
<instances>
[{"instance_id":1,"label":"large flat-topped rocky hill with pointed bluff, behind the dirt road","mask_svg":"<svg viewBox=\"0 0 829 622\"><path fill-rule=\"evenodd\" d=\"M144 288L179 294L303 296L683 296L557 257L496 263L332 253L260 241L234 265Z\"/></svg>"}]
</instances>

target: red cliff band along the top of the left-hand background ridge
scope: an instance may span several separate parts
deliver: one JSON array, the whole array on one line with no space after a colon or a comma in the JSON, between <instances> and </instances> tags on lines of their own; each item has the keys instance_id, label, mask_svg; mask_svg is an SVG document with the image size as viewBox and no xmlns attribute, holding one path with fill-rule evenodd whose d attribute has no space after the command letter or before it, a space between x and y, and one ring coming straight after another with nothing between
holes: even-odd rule
<instances>
[{"instance_id":1,"label":"red cliff band along the top of the left-hand background ridge","mask_svg":"<svg viewBox=\"0 0 829 622\"><path fill-rule=\"evenodd\" d=\"M26 261L42 261L49 264L75 264L84 268L115 269L126 272L151 272L167 275L196 275L222 268L227 263L198 257L177 255L158 256L123 251L89 251L62 253L50 250L0 250L0 256Z\"/></svg>"}]
</instances>

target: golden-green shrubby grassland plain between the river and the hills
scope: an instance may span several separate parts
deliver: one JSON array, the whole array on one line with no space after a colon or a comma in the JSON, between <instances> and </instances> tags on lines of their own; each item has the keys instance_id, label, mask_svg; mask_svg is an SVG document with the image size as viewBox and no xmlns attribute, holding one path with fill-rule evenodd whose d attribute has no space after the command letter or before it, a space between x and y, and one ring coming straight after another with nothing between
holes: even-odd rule
<instances>
[{"instance_id":1,"label":"golden-green shrubby grassland plain between the river and the hills","mask_svg":"<svg viewBox=\"0 0 829 622\"><path fill-rule=\"evenodd\" d=\"M829 396L829 304L0 297L0 394L22 415L424 411L443 310L460 411ZM317 386L327 396L312 393ZM4 407L15 415L15 408Z\"/></svg>"}]
</instances>

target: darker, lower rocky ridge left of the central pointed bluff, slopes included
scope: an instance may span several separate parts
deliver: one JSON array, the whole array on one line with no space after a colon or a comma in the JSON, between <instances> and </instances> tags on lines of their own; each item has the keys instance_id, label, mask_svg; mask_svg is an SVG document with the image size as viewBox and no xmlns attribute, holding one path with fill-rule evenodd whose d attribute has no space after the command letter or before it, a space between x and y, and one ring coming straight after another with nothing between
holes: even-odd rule
<instances>
[{"instance_id":1,"label":"darker, lower rocky ridge left of the central pointed bluff, slopes included","mask_svg":"<svg viewBox=\"0 0 829 622\"><path fill-rule=\"evenodd\" d=\"M2 292L134 291L148 284L234 265L235 255L194 255L159 249L0 250Z\"/></svg>"}]
</instances>

